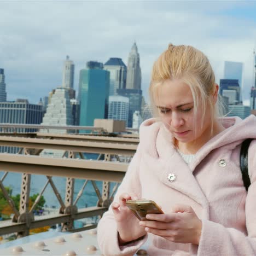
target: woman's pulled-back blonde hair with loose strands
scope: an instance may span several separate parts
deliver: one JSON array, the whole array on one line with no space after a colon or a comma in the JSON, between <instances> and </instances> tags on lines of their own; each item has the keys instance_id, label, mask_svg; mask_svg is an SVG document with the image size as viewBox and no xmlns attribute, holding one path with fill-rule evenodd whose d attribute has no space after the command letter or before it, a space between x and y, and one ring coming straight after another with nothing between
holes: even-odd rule
<instances>
[{"instance_id":1,"label":"woman's pulled-back blonde hair with loose strands","mask_svg":"<svg viewBox=\"0 0 256 256\"><path fill-rule=\"evenodd\" d=\"M202 104L202 120L205 119L206 106L210 103L213 131L214 119L222 115L222 103L219 98L216 104L210 100L215 89L215 75L205 54L190 45L168 45L168 49L154 63L149 86L150 101L155 114L158 113L155 106L156 89L167 79L181 79L189 86L194 101L194 120L198 103Z\"/></svg>"}]
</instances>

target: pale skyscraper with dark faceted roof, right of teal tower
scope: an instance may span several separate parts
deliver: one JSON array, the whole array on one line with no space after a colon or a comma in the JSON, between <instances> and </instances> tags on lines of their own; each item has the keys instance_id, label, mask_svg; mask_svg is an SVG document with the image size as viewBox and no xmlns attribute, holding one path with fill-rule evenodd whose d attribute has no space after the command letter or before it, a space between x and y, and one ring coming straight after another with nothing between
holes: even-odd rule
<instances>
[{"instance_id":1,"label":"pale skyscraper with dark faceted roof, right of teal tower","mask_svg":"<svg viewBox=\"0 0 256 256\"><path fill-rule=\"evenodd\" d=\"M117 89L124 89L126 84L126 66L120 58L110 58L104 69L110 72L109 96L117 95Z\"/></svg>"}]
</instances>

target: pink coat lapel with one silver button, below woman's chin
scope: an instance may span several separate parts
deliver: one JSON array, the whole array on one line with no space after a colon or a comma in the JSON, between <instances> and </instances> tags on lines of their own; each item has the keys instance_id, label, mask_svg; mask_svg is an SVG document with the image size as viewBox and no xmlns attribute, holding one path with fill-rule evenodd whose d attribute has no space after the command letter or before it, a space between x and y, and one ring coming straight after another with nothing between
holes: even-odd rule
<instances>
[{"instance_id":1,"label":"pink coat lapel with one silver button, below woman's chin","mask_svg":"<svg viewBox=\"0 0 256 256\"><path fill-rule=\"evenodd\" d=\"M160 125L156 136L156 143L146 149L147 161L150 169L162 183L188 195L202 206L207 206L207 199L200 185L197 183L193 172L173 147L172 138L166 133L164 125ZM170 173L176 175L175 181L169 181ZM203 207L205 210L208 207ZM208 215L208 213L207 213Z\"/></svg>"}]
</instances>

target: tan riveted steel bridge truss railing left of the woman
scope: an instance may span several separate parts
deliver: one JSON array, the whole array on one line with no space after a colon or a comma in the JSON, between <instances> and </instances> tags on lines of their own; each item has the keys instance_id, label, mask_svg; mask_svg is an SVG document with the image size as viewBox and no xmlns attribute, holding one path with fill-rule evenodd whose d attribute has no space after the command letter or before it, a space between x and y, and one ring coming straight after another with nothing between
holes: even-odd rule
<instances>
[{"instance_id":1,"label":"tan riveted steel bridge truss railing left of the woman","mask_svg":"<svg viewBox=\"0 0 256 256\"><path fill-rule=\"evenodd\" d=\"M74 220L101 216L112 202L113 195L122 181L129 161L136 152L138 140L131 138L99 137L90 141L75 138L58 139L26 138L14 136L0 136L0 146L19 147L17 154L0 153L0 170L4 171L0 179L0 189L13 210L11 220L0 222L0 235L16 232L18 236L26 236L31 229L61 223L62 231L77 231ZM65 138L65 139L63 139ZM112 141L113 139L113 141ZM61 150L62 158L42 156L44 150ZM98 154L97 160L86 160L85 153ZM22 173L19 210L15 207L8 191L4 187L4 179L9 172ZM45 184L40 186L40 193L32 206L29 206L31 174L46 176ZM66 178L65 198L62 198L53 177ZM74 198L75 179L84 179L84 183ZM96 181L102 181L102 188L97 187ZM110 191L110 182L114 182ZM92 207L78 208L77 202L84 190L91 183L97 195L97 204ZM44 194L46 187L53 189L53 195L60 203L59 213L46 216L34 216L33 210ZM85 226L83 229L95 228L95 225ZM81 229L80 229L81 230Z\"/></svg>"}]
</instances>

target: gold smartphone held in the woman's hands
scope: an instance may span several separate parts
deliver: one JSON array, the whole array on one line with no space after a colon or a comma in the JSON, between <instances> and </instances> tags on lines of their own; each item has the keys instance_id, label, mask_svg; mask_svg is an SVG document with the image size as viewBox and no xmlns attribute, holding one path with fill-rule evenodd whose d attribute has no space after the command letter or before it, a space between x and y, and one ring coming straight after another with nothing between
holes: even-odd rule
<instances>
[{"instance_id":1,"label":"gold smartphone held in the woman's hands","mask_svg":"<svg viewBox=\"0 0 256 256\"><path fill-rule=\"evenodd\" d=\"M126 206L139 220L147 220L146 215L148 213L164 213L152 200L127 200Z\"/></svg>"}]
</instances>

